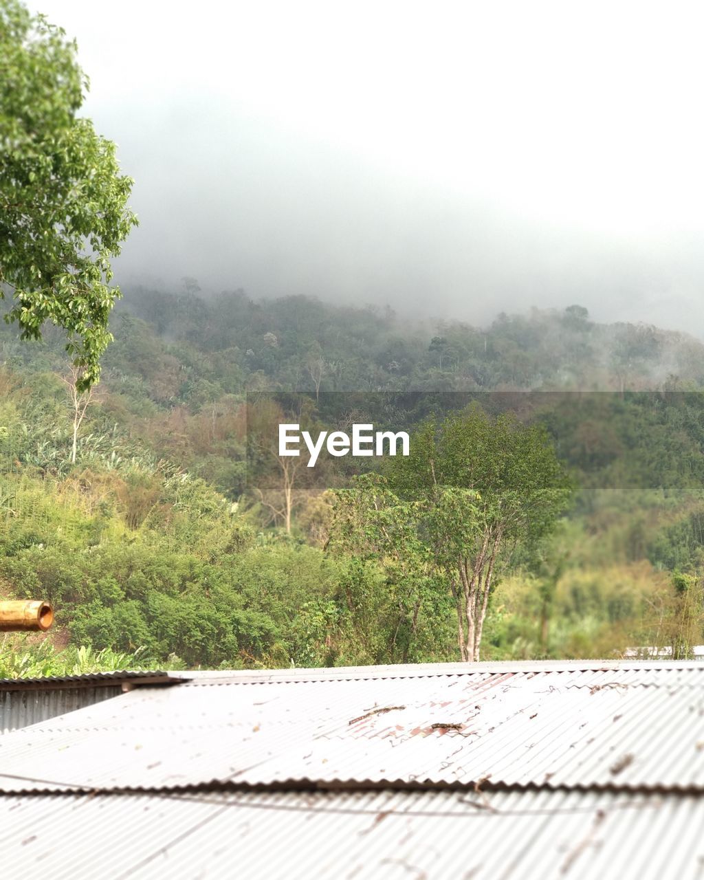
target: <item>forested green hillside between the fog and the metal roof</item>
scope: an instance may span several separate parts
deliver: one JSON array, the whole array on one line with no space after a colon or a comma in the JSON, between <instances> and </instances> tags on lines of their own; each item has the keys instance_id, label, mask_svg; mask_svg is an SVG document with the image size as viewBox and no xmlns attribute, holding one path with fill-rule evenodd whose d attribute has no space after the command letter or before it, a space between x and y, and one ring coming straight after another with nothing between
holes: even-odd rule
<instances>
[{"instance_id":1,"label":"forested green hillside between the fog and the metal roof","mask_svg":"<svg viewBox=\"0 0 704 880\"><path fill-rule=\"evenodd\" d=\"M429 534L436 547L462 538L458 510L476 499L447 477L455 494L433 500L420 466L412 485L411 470L383 463L287 484L261 438L294 401L311 424L341 418L341 400L345 417L402 414L426 438L416 465L432 419L469 412L484 449L507 414L539 430L531 454L554 456L559 503L549 528L531 515L497 545L488 581L482 568L482 659L685 656L704 641L699 341L600 324L579 305L480 328L309 297L210 297L190 278L124 293L90 391L59 330L27 342L0 329L0 593L48 598L58 620L48 636L6 635L1 674L479 656L466 629L458 641L455 563L426 552ZM546 487L533 486L535 503Z\"/></svg>"}]
</instances>

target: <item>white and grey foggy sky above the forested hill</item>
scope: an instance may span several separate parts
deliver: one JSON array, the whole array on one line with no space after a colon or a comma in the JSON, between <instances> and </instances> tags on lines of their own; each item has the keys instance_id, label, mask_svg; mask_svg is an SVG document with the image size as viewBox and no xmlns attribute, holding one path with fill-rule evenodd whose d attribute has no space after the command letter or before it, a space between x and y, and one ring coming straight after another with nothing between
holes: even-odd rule
<instances>
[{"instance_id":1,"label":"white and grey foggy sky above the forested hill","mask_svg":"<svg viewBox=\"0 0 704 880\"><path fill-rule=\"evenodd\" d=\"M126 288L704 336L698 4L30 5L136 179Z\"/></svg>"}]
</instances>

